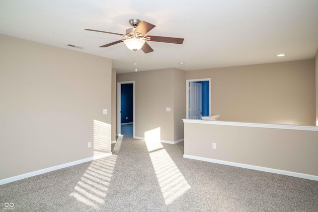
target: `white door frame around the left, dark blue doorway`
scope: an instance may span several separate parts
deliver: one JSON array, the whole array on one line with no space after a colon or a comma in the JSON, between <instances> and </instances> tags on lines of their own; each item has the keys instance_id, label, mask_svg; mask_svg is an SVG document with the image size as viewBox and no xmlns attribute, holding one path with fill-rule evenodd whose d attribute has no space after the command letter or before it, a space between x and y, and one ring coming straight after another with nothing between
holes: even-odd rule
<instances>
[{"instance_id":1,"label":"white door frame around the left, dark blue doorway","mask_svg":"<svg viewBox=\"0 0 318 212\"><path fill-rule=\"evenodd\" d=\"M133 83L133 138L135 138L135 80L117 82L117 136L121 135L121 85Z\"/></svg>"}]
</instances>

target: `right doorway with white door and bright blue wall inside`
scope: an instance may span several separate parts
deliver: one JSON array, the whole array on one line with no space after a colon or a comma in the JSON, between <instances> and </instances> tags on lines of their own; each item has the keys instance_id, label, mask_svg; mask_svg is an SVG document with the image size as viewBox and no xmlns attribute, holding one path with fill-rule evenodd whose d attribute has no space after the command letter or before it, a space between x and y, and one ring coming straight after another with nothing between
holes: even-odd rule
<instances>
[{"instance_id":1,"label":"right doorway with white door and bright blue wall inside","mask_svg":"<svg viewBox=\"0 0 318 212\"><path fill-rule=\"evenodd\" d=\"M190 89L191 85L193 87L192 90ZM186 80L187 119L201 119L201 116L211 115L210 88L211 78Z\"/></svg>"}]
</instances>

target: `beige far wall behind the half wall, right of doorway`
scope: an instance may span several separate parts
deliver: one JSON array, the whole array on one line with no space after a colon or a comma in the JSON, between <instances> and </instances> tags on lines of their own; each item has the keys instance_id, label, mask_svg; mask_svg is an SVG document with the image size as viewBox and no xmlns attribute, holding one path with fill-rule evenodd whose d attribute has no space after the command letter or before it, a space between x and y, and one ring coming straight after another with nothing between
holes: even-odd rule
<instances>
[{"instance_id":1,"label":"beige far wall behind the half wall, right of doorway","mask_svg":"<svg viewBox=\"0 0 318 212\"><path fill-rule=\"evenodd\" d=\"M315 60L186 71L211 78L212 113L220 120L316 125Z\"/></svg>"}]
</instances>

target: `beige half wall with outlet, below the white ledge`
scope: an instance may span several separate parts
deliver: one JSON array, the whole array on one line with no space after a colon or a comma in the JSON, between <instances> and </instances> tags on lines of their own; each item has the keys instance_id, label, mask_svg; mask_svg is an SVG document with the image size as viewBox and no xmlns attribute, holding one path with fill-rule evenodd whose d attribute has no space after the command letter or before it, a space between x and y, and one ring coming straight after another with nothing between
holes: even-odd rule
<instances>
[{"instance_id":1,"label":"beige half wall with outlet, below the white ledge","mask_svg":"<svg viewBox=\"0 0 318 212\"><path fill-rule=\"evenodd\" d=\"M318 131L184 123L184 132L185 155L318 176Z\"/></svg>"}]
</instances>

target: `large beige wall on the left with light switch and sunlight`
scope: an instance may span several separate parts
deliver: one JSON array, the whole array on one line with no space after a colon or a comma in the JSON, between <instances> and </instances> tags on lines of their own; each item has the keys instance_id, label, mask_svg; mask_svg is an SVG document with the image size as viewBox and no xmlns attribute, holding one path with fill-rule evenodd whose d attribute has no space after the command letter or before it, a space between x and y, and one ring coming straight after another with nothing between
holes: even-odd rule
<instances>
[{"instance_id":1,"label":"large beige wall on the left with light switch and sunlight","mask_svg":"<svg viewBox=\"0 0 318 212\"><path fill-rule=\"evenodd\" d=\"M110 59L4 35L0 46L0 179L111 151Z\"/></svg>"}]
</instances>

